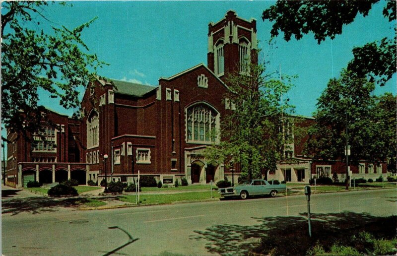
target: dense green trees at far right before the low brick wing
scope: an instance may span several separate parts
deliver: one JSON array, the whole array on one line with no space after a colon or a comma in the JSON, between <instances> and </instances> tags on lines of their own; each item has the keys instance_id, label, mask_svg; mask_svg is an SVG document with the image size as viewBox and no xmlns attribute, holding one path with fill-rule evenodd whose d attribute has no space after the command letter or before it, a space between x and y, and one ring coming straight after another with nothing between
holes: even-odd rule
<instances>
[{"instance_id":1,"label":"dense green trees at far right before the low brick wing","mask_svg":"<svg viewBox=\"0 0 397 256\"><path fill-rule=\"evenodd\" d=\"M347 141L353 160L380 161L396 155L396 99L372 95L375 85L343 71L320 96L306 154L316 159L344 158ZM394 130L394 131L393 131Z\"/></svg>"}]
</instances>

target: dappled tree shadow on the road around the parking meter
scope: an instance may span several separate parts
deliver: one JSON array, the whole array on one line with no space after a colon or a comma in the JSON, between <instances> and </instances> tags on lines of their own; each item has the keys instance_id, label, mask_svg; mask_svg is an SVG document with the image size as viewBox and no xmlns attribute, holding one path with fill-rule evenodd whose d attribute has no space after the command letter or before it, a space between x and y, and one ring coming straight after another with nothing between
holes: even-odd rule
<instances>
[{"instance_id":1,"label":"dappled tree shadow on the road around the parking meter","mask_svg":"<svg viewBox=\"0 0 397 256\"><path fill-rule=\"evenodd\" d=\"M375 217L367 213L341 212L311 214L312 238L309 237L307 213L300 216L277 216L254 218L257 225L240 226L234 224L215 225L204 231L195 231L190 239L206 240L208 253L220 255L247 255L259 245L261 238L274 241L281 255L305 255L308 247L318 240L327 248L338 239L344 239L347 231L370 230L373 234L388 229L382 225L396 227L397 217ZM386 220L387 219L387 220ZM386 237L396 236L395 228L390 228ZM285 243L283 244L283 241ZM288 246L287 246L288 244ZM284 247L284 248L283 248ZM257 252L264 253L264 252ZM266 253L265 253L266 254Z\"/></svg>"}]
</instances>

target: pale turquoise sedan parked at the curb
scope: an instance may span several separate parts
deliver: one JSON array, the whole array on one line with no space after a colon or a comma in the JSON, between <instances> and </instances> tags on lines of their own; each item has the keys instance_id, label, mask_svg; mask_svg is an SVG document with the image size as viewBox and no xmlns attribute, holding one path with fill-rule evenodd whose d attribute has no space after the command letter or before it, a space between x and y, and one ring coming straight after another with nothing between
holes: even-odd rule
<instances>
[{"instance_id":1,"label":"pale turquoise sedan parked at the curb","mask_svg":"<svg viewBox=\"0 0 397 256\"><path fill-rule=\"evenodd\" d=\"M275 197L277 193L285 190L285 184L271 185L265 180L246 180L235 187L219 189L218 192L224 197L240 196L241 199L246 199L248 196L266 194Z\"/></svg>"}]
</instances>

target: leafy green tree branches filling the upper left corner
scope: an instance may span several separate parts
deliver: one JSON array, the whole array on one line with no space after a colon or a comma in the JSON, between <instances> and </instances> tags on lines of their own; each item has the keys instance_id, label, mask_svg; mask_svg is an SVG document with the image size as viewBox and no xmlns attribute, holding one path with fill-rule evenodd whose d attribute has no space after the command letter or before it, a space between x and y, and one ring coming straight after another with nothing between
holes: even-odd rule
<instances>
[{"instance_id":1,"label":"leafy green tree branches filling the upper left corner","mask_svg":"<svg viewBox=\"0 0 397 256\"><path fill-rule=\"evenodd\" d=\"M3 124L28 135L45 121L45 109L38 106L40 90L59 98L60 105L79 105L79 86L86 86L104 64L90 54L81 39L91 20L74 29L42 28L51 22L45 14L49 4L64 2L3 1L1 9L1 114ZM24 113L22 116L21 113Z\"/></svg>"}]
</instances>

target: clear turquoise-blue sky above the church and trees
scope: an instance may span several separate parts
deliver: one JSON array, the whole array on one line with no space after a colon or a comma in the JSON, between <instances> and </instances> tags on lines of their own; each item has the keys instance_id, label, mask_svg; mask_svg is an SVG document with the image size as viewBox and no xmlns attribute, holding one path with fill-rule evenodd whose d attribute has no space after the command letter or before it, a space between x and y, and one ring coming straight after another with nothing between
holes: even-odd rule
<instances>
[{"instance_id":1,"label":"clear turquoise-blue sky above the church and trees","mask_svg":"<svg viewBox=\"0 0 397 256\"><path fill-rule=\"evenodd\" d=\"M285 42L281 36L270 49L271 24L262 21L263 10L274 1L82 1L68 2L70 6L50 4L44 14L51 26L74 28L94 17L98 19L83 31L83 40L92 53L110 64L99 75L116 79L140 81L158 85L158 78L171 76L199 63L207 63L208 23L224 17L229 9L245 19L256 18L258 39L262 42L262 57L270 62L268 71L278 69L283 74L298 75L294 88L288 93L296 106L296 114L311 116L317 98L332 77L352 59L354 46L380 40L394 34L382 15L385 2L371 9L369 16L359 14L354 23L344 26L342 35L321 45L312 35ZM282 35L282 34L280 34ZM331 55L332 52L332 55ZM333 63L333 65L332 65ZM332 69L333 66L333 69ZM375 94L396 94L396 75L384 87L377 86ZM59 101L41 93L40 104L64 114L72 114L59 106ZM82 97L82 95L80 95Z\"/></svg>"}]
</instances>

